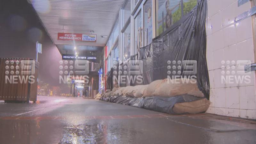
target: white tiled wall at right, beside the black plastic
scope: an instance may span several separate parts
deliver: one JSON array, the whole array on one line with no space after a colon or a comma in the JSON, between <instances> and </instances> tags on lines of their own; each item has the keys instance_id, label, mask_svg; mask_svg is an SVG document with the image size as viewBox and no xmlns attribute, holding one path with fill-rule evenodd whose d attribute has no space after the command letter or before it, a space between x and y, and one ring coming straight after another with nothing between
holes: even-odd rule
<instances>
[{"instance_id":1,"label":"white tiled wall at right, beside the black plastic","mask_svg":"<svg viewBox=\"0 0 256 144\"><path fill-rule=\"evenodd\" d=\"M255 63L252 18L234 23L235 17L250 9L250 2L238 7L237 0L208 0L206 57L211 105L207 113L256 119L255 71L246 73L250 81L221 81L221 76L241 76L237 74L237 60Z\"/></svg>"}]
</instances>

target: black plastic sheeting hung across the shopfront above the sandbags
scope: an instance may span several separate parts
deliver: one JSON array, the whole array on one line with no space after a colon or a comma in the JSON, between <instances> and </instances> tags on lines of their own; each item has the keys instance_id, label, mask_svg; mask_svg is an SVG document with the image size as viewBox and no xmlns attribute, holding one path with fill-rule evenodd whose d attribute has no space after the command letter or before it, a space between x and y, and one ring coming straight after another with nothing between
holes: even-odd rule
<instances>
[{"instance_id":1,"label":"black plastic sheeting hung across the shopfront above the sandbags","mask_svg":"<svg viewBox=\"0 0 256 144\"><path fill-rule=\"evenodd\" d=\"M153 39L153 42L141 48L136 56L131 56L131 60L141 60L143 62L143 84L150 84L155 80L166 78L190 78L196 76L198 88L209 100L210 84L206 62L206 31L205 20L207 13L207 0L198 0L196 7L186 16L180 19L164 33ZM184 61L194 60L197 63L196 74L184 74L182 66ZM172 63L175 61L176 63ZM171 62L171 63L170 63ZM179 64L179 62L181 62ZM129 72L131 62L124 62L119 65L119 76L130 77ZM124 69L124 66L127 68ZM173 66L176 68L173 69ZM178 69L181 66L181 69ZM124 72L126 71L126 72ZM173 73L173 71L175 71ZM180 73L179 73L180 71ZM121 87L136 86L138 83L131 82L126 78L125 83L119 84Z\"/></svg>"}]
</instances>

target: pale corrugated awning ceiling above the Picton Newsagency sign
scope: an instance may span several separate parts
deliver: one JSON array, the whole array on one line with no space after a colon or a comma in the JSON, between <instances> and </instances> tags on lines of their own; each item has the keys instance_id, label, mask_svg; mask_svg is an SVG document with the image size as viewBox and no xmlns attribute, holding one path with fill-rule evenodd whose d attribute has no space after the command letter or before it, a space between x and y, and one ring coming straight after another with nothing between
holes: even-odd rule
<instances>
[{"instance_id":1,"label":"pale corrugated awning ceiling above the Picton Newsagency sign","mask_svg":"<svg viewBox=\"0 0 256 144\"><path fill-rule=\"evenodd\" d=\"M125 0L28 0L54 44L104 46ZM91 33L91 30L94 33ZM97 42L58 41L58 33L97 34Z\"/></svg>"}]
</instances>

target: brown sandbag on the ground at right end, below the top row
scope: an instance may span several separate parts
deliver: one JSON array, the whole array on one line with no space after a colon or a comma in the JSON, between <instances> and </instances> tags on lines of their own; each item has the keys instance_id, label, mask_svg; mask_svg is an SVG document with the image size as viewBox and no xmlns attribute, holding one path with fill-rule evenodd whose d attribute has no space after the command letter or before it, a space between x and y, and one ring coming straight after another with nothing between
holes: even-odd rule
<instances>
[{"instance_id":1,"label":"brown sandbag on the ground at right end, below the top row","mask_svg":"<svg viewBox=\"0 0 256 144\"><path fill-rule=\"evenodd\" d=\"M183 114L183 113L196 114L196 113L205 112L209 108L209 106L210 106L210 101L204 98L204 99L196 100L193 102L176 103L174 104L172 110L176 114Z\"/></svg>"}]
</instances>

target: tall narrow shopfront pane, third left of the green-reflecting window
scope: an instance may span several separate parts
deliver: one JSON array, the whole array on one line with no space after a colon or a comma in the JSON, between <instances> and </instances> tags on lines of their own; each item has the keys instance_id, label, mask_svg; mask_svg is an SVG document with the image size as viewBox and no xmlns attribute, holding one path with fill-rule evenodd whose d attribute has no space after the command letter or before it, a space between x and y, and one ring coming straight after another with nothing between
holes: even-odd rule
<instances>
[{"instance_id":1,"label":"tall narrow shopfront pane, third left of the green-reflecting window","mask_svg":"<svg viewBox=\"0 0 256 144\"><path fill-rule=\"evenodd\" d=\"M130 58L131 52L131 25L125 29L124 31L124 60Z\"/></svg>"}]
</instances>

